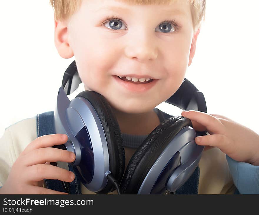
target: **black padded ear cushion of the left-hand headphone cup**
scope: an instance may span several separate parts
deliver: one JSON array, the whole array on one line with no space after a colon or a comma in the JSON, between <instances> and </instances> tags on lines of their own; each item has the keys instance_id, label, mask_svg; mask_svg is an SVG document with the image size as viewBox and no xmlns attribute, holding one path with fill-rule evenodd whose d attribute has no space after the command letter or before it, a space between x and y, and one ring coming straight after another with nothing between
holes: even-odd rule
<instances>
[{"instance_id":1,"label":"black padded ear cushion of the left-hand headphone cup","mask_svg":"<svg viewBox=\"0 0 259 215\"><path fill-rule=\"evenodd\" d=\"M110 171L118 183L120 183L125 168L125 151L119 124L112 112L109 102L103 95L89 90L80 92L76 97L87 99L99 116L108 144ZM114 190L114 185L108 181L107 186L102 191L95 193L106 194Z\"/></svg>"}]
</instances>

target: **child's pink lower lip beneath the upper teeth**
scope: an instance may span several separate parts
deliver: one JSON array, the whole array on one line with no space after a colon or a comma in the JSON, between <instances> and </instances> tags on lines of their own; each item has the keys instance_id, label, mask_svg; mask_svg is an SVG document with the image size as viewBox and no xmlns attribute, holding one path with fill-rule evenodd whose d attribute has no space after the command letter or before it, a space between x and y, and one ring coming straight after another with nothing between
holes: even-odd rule
<instances>
[{"instance_id":1,"label":"child's pink lower lip beneath the upper teeth","mask_svg":"<svg viewBox=\"0 0 259 215\"><path fill-rule=\"evenodd\" d=\"M146 83L146 84L134 84L131 82L123 81L121 80L117 75L112 75L114 79L123 87L125 87L127 90L131 92L145 92L149 89L151 89L159 79L155 79L152 82Z\"/></svg>"}]
</instances>

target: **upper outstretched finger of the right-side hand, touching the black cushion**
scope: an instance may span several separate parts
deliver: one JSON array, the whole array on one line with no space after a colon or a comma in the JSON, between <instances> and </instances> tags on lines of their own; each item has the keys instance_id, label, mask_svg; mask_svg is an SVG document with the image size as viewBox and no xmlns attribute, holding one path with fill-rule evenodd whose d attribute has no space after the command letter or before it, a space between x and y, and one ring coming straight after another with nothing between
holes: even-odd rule
<instances>
[{"instance_id":1,"label":"upper outstretched finger of the right-side hand, touching the black cushion","mask_svg":"<svg viewBox=\"0 0 259 215\"><path fill-rule=\"evenodd\" d=\"M207 113L190 110L188 112L182 112L182 116L204 125L206 130L210 131L210 133L221 134L224 131L224 125L220 120Z\"/></svg>"}]
</instances>

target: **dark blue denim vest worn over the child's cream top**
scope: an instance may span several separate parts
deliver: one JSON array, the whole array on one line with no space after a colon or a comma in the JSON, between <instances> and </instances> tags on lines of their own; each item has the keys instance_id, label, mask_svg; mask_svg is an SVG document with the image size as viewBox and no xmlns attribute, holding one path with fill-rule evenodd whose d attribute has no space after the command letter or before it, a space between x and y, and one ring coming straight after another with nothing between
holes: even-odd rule
<instances>
[{"instance_id":1,"label":"dark blue denim vest worn over the child's cream top","mask_svg":"<svg viewBox=\"0 0 259 215\"><path fill-rule=\"evenodd\" d=\"M49 111L37 115L37 136L54 134L54 111ZM69 166L69 171L74 172L73 166ZM190 178L177 190L175 194L198 194L200 168L196 167ZM66 192L59 180L44 179L45 187L55 191ZM75 179L70 183L71 194L82 194L80 191L80 181L75 174Z\"/></svg>"}]
</instances>

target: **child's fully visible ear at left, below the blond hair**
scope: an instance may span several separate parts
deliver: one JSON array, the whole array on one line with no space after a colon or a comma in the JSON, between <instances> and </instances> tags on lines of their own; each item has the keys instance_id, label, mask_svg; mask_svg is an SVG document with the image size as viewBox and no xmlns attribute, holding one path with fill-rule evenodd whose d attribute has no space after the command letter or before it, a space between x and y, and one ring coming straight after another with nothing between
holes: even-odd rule
<instances>
[{"instance_id":1,"label":"child's fully visible ear at left, below the blond hair","mask_svg":"<svg viewBox=\"0 0 259 215\"><path fill-rule=\"evenodd\" d=\"M55 21L55 46L59 55L63 58L71 58L74 56L72 48L69 46L67 22L59 21L54 18Z\"/></svg>"}]
</instances>

